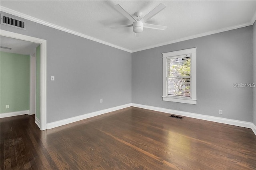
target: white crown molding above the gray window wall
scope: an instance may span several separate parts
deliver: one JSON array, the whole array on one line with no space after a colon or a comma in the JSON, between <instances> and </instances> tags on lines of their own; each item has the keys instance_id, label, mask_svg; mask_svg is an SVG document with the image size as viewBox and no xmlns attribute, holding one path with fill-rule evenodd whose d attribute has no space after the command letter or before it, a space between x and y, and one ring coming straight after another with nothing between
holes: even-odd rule
<instances>
[{"instance_id":1,"label":"white crown molding above the gray window wall","mask_svg":"<svg viewBox=\"0 0 256 170\"><path fill-rule=\"evenodd\" d=\"M226 28L222 28L222 29L217 29L217 30L209 31L209 32L205 32L205 33L200 33L200 34L197 34L197 35L192 35L192 36L189 36L189 37L184 37L184 38L168 41L168 42L165 42L165 43L160 43L160 44L144 47L144 48L141 48L141 49L132 50L132 53L138 52L138 51L143 51L143 50L146 50L146 49L152 49L152 48L155 48L155 47L160 47L160 46L163 46L163 45L169 45L169 44L173 44L173 43L178 43L180 41L186 41L186 40L189 40L189 39L204 37L206 35L212 35L212 34L216 34L216 33L230 31L232 29L238 29L238 28L242 28L242 27L247 27L247 26L253 25L254 21L256 20L256 13L254 14L253 18L254 19L252 19L250 22L247 22L247 23L243 23L243 24L240 24L240 25L235 25L235 26L232 26L232 27L226 27Z\"/></svg>"}]
</instances>

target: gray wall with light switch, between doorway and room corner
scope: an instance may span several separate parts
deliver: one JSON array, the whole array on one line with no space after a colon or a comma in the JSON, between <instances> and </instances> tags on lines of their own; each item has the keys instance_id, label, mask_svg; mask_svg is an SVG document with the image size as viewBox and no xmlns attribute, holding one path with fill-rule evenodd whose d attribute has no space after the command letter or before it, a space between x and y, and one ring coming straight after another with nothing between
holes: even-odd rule
<instances>
[{"instance_id":1,"label":"gray wall with light switch, between doorway and room corner","mask_svg":"<svg viewBox=\"0 0 256 170\"><path fill-rule=\"evenodd\" d=\"M47 123L131 103L130 53L28 20L1 29L47 40Z\"/></svg>"}]
</instances>

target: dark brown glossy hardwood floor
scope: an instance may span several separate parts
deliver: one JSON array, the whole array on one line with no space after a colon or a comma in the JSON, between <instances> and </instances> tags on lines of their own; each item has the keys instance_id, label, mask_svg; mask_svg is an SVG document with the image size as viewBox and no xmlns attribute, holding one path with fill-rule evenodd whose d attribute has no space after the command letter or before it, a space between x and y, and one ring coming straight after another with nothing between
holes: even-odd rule
<instances>
[{"instance_id":1,"label":"dark brown glossy hardwood floor","mask_svg":"<svg viewBox=\"0 0 256 170\"><path fill-rule=\"evenodd\" d=\"M251 129L128 107L40 131L30 115L1 119L1 170L255 170Z\"/></svg>"}]
</instances>

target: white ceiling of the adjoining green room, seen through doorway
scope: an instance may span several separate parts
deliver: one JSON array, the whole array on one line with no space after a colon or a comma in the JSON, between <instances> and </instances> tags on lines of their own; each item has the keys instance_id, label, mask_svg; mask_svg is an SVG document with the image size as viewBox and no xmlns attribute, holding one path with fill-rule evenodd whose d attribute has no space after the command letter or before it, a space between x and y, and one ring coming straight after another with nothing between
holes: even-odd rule
<instances>
[{"instance_id":1,"label":"white ceiling of the adjoining green room, seen through doorway","mask_svg":"<svg viewBox=\"0 0 256 170\"><path fill-rule=\"evenodd\" d=\"M23 55L33 55L36 51L36 47L39 45L37 43L31 43L29 41L4 36L1 36L0 42L1 47L11 48L11 50L1 48L0 51Z\"/></svg>"}]
</instances>

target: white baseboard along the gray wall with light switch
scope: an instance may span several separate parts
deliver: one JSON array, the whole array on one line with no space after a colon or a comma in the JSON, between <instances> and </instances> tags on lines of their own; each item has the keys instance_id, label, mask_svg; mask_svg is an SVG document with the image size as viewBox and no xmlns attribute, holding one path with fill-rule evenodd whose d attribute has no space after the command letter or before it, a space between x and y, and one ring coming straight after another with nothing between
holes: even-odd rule
<instances>
[{"instance_id":1,"label":"white baseboard along the gray wall with light switch","mask_svg":"<svg viewBox=\"0 0 256 170\"><path fill-rule=\"evenodd\" d=\"M83 119L87 119L87 118L90 118L90 117L102 115L102 114L105 114L105 113L109 113L111 111L116 111L116 110L124 109L126 107L131 107L131 106L132 106L132 104L125 104L125 105L122 105L122 106L116 106L116 107L112 107L112 108L109 108L109 109L95 111L95 112L92 112L92 113L86 113L84 115L79 115L79 116L76 116L76 117L70 117L68 119L63 119L63 120L60 120L60 121L54 121L52 123L47 123L46 129L52 129L54 127L67 125L69 123L73 123L73 122L76 122L76 121L80 121L80 120L83 120Z\"/></svg>"}]
</instances>

